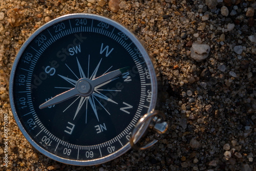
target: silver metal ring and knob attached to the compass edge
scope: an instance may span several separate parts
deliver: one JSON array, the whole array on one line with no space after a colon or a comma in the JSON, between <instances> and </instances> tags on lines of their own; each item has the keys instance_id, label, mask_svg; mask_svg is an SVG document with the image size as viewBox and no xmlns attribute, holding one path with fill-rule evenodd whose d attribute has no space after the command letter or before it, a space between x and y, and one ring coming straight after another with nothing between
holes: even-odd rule
<instances>
[{"instance_id":1,"label":"silver metal ring and knob attached to the compass edge","mask_svg":"<svg viewBox=\"0 0 256 171\"><path fill-rule=\"evenodd\" d=\"M144 126L144 124L148 123L148 121L150 121L150 120L151 120L151 122L148 125L148 127L150 129L152 129L153 131L155 131L157 137L160 134L163 134L166 132L168 124L167 124L167 122L164 121L165 116L164 116L163 112L151 111L150 113L145 114L135 125L134 130L131 135L130 144L134 149L137 149L137 150L146 149L158 142L157 139L154 139L153 141L148 142L142 146L138 146L136 144L138 141L137 137L141 137L142 136L141 134L144 133L144 132L141 133L142 127Z\"/></svg>"}]
</instances>

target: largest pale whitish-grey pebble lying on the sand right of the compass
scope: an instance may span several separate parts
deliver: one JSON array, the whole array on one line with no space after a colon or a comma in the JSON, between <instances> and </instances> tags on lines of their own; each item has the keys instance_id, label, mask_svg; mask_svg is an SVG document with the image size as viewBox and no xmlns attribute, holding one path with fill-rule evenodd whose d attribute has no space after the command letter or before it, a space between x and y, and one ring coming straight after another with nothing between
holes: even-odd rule
<instances>
[{"instance_id":1,"label":"largest pale whitish-grey pebble lying on the sand right of the compass","mask_svg":"<svg viewBox=\"0 0 256 171\"><path fill-rule=\"evenodd\" d=\"M200 62L206 59L210 52L210 46L207 44L194 43L190 48L190 57Z\"/></svg>"}]
</instances>

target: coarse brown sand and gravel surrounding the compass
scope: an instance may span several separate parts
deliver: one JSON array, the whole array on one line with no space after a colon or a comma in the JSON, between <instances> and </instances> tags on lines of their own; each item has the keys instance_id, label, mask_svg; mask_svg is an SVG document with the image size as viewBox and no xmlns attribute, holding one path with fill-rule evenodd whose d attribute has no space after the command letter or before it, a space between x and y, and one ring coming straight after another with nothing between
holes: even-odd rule
<instances>
[{"instance_id":1,"label":"coarse brown sand and gravel surrounding the compass","mask_svg":"<svg viewBox=\"0 0 256 171\"><path fill-rule=\"evenodd\" d=\"M0 3L0 170L256 170L255 1ZM90 167L36 151L15 123L8 88L25 40L51 19L81 12L116 20L143 41L169 123L153 147Z\"/></svg>"}]
</instances>

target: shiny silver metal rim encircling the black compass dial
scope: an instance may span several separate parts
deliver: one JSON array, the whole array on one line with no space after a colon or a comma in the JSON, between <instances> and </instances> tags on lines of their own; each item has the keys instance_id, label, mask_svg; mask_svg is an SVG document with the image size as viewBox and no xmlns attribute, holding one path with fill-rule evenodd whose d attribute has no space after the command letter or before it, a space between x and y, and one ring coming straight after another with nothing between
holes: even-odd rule
<instances>
[{"instance_id":1,"label":"shiny silver metal rim encircling the black compass dial","mask_svg":"<svg viewBox=\"0 0 256 171\"><path fill-rule=\"evenodd\" d=\"M78 13L78 14L68 14L68 15L64 15L61 17L58 17L56 19L51 20L49 23L41 26L39 29L37 29L27 40L26 42L23 44L22 48L20 48L13 66L12 66L12 70L11 70L11 75L10 75L10 84L9 84L9 94L10 94L10 104L11 104L11 109L12 109L12 113L13 116L16 120L16 123L20 129L20 131L22 131L23 135L26 137L26 139L42 154L46 155L47 157L59 161L61 163L66 163L66 164L71 164L71 165L80 165L80 166L89 166L89 165L97 165L97 164L101 164L101 163L105 163L108 162L110 160L113 160L119 156L121 156L122 154L124 154L125 152L129 151L129 149L131 149L131 144L127 143L126 145L124 145L122 148L120 148L116 153L113 153L109 156L106 156L104 158L99 158L99 159L95 159L95 160L88 160L88 161L78 161L78 160L70 160L70 159L65 159L65 158L61 158L59 156L56 156L52 153L49 153L48 151L46 151L44 148L42 148L41 146L39 146L30 136L29 134L25 131L25 128L23 127L22 123L20 122L18 115L17 115L17 111L15 109L15 105L14 105L14 100L13 100L13 80L14 80L14 74L16 71L16 67L18 64L18 61L20 59L20 57L22 56L24 50L27 48L27 46L30 44L30 42L34 39L34 37L36 37L41 31L47 29L48 27L61 22L62 20L66 20L66 19L71 19L71 18L89 18L89 19L97 19L100 20L104 23L108 23L114 27L116 27L117 29L119 29L120 31L122 31L123 33L125 33L133 42L134 44L138 47L138 49L140 50L145 63L148 67L148 71L150 72L151 75L151 82L152 82L152 101L150 104L150 108L148 109L148 113L153 111L155 109L155 105L156 105L156 101L157 101L157 79L156 79L156 74L155 74L155 70L153 67L153 64L151 62L150 57L148 56L146 50L144 49L144 47L141 45L140 41L136 38L136 36L131 33L129 30L127 30L125 27L123 27L122 25L120 25L119 23L115 22L114 20L111 20L109 18L100 16L100 15L95 15L95 14L85 14L85 13ZM141 132L141 136L143 135L143 133L146 131L148 125L150 124L150 121L148 121L145 126L143 127L144 130L142 130Z\"/></svg>"}]
</instances>

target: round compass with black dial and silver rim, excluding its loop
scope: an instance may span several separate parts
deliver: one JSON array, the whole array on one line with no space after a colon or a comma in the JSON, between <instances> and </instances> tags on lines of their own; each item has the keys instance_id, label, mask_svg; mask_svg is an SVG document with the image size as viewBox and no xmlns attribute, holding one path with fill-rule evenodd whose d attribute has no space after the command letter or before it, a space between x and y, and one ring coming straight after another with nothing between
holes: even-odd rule
<instances>
[{"instance_id":1,"label":"round compass with black dial and silver rim, excluding its loop","mask_svg":"<svg viewBox=\"0 0 256 171\"><path fill-rule=\"evenodd\" d=\"M135 124L156 103L154 69L139 41L91 14L39 28L17 54L10 80L13 114L28 141L74 165L129 150Z\"/></svg>"}]
</instances>

